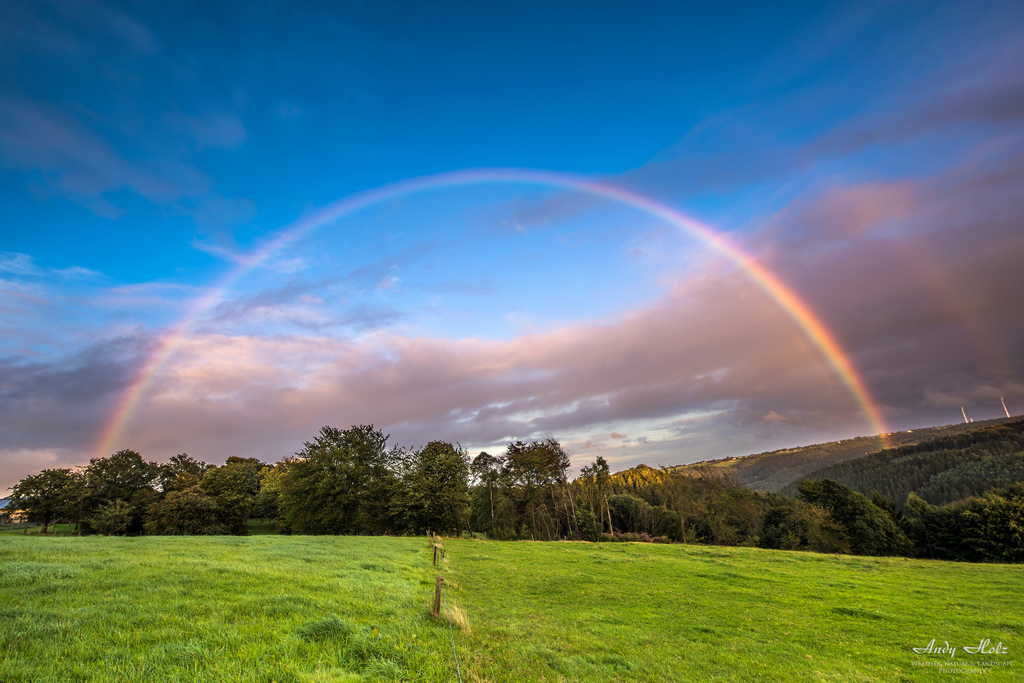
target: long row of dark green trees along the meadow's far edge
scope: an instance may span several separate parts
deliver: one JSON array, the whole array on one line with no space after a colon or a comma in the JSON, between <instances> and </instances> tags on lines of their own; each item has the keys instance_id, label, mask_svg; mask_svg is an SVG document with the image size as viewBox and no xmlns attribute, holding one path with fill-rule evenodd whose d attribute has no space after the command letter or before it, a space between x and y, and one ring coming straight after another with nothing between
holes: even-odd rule
<instances>
[{"instance_id":1,"label":"long row of dark green trees along the meadow's far edge","mask_svg":"<svg viewBox=\"0 0 1024 683\"><path fill-rule=\"evenodd\" d=\"M904 454L904 456L911 454ZM598 457L570 475L554 438L516 440L475 458L458 444L388 445L372 425L324 427L274 464L134 451L49 469L13 488L8 509L80 533L245 535L250 518L279 533L444 535L497 540L652 541L970 561L1024 559L1024 487L935 506L897 506L843 483L804 479L795 496L762 494L727 469L638 466Z\"/></svg>"}]
</instances>

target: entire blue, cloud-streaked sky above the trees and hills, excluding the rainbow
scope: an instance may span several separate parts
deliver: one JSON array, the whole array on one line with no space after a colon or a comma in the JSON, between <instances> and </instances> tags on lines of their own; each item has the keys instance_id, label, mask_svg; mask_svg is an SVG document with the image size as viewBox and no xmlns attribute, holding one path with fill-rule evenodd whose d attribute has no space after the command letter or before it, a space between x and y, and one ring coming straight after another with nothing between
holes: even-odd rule
<instances>
[{"instance_id":1,"label":"entire blue, cloud-streaked sky above the trees and hills, excluding the rainbow","mask_svg":"<svg viewBox=\"0 0 1024 683\"><path fill-rule=\"evenodd\" d=\"M293 221L478 167L584 175L728 234L894 427L1024 404L1018 3L0 16L0 484L95 455L159 340ZM273 461L356 422L492 450L551 433L620 466L866 428L699 240L506 183L395 198L275 253L197 317L116 445Z\"/></svg>"}]
</instances>

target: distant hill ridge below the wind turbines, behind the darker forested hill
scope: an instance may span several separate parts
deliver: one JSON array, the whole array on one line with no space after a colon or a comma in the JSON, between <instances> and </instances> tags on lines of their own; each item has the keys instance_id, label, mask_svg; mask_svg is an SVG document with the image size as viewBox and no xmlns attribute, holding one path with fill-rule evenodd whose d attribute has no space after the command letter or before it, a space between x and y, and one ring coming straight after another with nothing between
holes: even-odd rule
<instances>
[{"instance_id":1,"label":"distant hill ridge below the wind turbines, behind the darker forested hill","mask_svg":"<svg viewBox=\"0 0 1024 683\"><path fill-rule=\"evenodd\" d=\"M1020 417L998 418L995 420L972 422L970 424L963 423L947 425L945 427L926 427L924 429L893 432L888 435L888 441L891 447L912 445L943 436L962 434L981 427L1001 425L1020 419ZM777 493L797 479L821 468L862 458L871 453L878 453L882 450L882 445L881 439L878 436L857 436L842 441L815 443L799 449L785 449L783 451L772 451L770 453L743 456L741 458L725 458L722 460L693 463L691 465L680 465L671 469L686 470L710 465L722 468L733 474L740 483L754 490ZM902 501L900 503L902 504Z\"/></svg>"}]
</instances>

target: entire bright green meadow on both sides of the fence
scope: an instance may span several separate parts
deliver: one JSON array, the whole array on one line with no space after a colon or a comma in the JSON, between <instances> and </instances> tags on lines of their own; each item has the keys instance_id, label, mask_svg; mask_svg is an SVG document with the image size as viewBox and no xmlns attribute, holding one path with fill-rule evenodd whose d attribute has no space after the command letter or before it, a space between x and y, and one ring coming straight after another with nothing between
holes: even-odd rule
<instances>
[{"instance_id":1,"label":"entire bright green meadow on both sides of the fence","mask_svg":"<svg viewBox=\"0 0 1024 683\"><path fill-rule=\"evenodd\" d=\"M466 681L1018 680L1024 567L444 542ZM0 681L457 680L425 539L0 538ZM376 635L374 629L377 629ZM915 654L935 638L954 657ZM963 645L1001 642L1007 654Z\"/></svg>"}]
</instances>

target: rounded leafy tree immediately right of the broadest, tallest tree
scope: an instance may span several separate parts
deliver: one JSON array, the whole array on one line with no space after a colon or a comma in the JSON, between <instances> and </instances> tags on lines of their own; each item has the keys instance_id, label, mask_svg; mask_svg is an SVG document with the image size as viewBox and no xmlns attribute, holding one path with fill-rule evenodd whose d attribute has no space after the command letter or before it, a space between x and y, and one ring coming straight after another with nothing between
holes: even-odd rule
<instances>
[{"instance_id":1,"label":"rounded leafy tree immediately right of the broadest, tallest tree","mask_svg":"<svg viewBox=\"0 0 1024 683\"><path fill-rule=\"evenodd\" d=\"M413 533L427 529L456 535L469 522L469 459L445 441L431 441L413 454L396 516Z\"/></svg>"}]
</instances>

